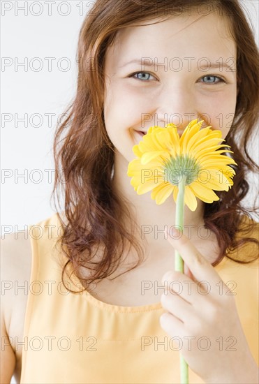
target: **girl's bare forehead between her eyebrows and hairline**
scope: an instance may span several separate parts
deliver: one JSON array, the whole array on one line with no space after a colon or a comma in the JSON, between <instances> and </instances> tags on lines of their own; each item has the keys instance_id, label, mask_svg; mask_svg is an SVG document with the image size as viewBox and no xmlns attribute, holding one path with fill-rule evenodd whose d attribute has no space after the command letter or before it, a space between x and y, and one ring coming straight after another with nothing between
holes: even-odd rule
<instances>
[{"instance_id":1,"label":"girl's bare forehead between her eyebrows and hairline","mask_svg":"<svg viewBox=\"0 0 259 384\"><path fill-rule=\"evenodd\" d=\"M121 29L107 57L117 66L142 57L162 61L165 57L228 59L236 57L236 46L225 18L216 13L181 15Z\"/></svg>"}]
</instances>

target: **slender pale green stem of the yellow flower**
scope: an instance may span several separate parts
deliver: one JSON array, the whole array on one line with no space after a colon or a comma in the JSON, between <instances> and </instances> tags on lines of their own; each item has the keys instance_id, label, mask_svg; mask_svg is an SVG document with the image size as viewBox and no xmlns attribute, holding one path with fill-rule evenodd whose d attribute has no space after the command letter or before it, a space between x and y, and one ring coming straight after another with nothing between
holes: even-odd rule
<instances>
[{"instance_id":1,"label":"slender pale green stem of the yellow flower","mask_svg":"<svg viewBox=\"0 0 259 384\"><path fill-rule=\"evenodd\" d=\"M178 184L178 195L176 202L176 212L175 212L175 226L179 228L179 231L182 233L184 231L184 191L185 191L186 176L182 176L182 180ZM175 270L184 273L184 260L178 251L175 250ZM184 360L184 357L180 353L180 375L181 375L181 384L188 384L188 364Z\"/></svg>"}]
</instances>

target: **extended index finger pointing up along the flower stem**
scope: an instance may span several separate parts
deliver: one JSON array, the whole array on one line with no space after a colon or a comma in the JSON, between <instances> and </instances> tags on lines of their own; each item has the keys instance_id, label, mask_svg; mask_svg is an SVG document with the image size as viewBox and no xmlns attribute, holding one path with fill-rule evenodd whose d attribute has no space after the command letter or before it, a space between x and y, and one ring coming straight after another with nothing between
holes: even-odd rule
<instances>
[{"instance_id":1,"label":"extended index finger pointing up along the flower stem","mask_svg":"<svg viewBox=\"0 0 259 384\"><path fill-rule=\"evenodd\" d=\"M205 281L209 283L210 288L216 290L216 283L219 283L221 278L216 273L212 265L203 257L195 248L191 241L176 228L168 232L168 241L179 252L188 266L193 278L199 282Z\"/></svg>"}]
</instances>

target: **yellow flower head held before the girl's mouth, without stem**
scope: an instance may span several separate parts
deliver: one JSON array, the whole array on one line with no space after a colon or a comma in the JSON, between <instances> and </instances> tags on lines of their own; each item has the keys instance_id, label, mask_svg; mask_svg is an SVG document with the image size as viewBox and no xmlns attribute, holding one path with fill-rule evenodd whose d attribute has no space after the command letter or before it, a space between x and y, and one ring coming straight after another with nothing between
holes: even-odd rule
<instances>
[{"instance_id":1,"label":"yellow flower head held before the girl's mouth, without stem","mask_svg":"<svg viewBox=\"0 0 259 384\"><path fill-rule=\"evenodd\" d=\"M138 195L151 192L151 198L160 205L173 194L176 202L178 184L185 181L185 204L194 211L197 200L211 203L219 200L214 191L228 191L235 171L229 166L235 164L222 149L229 145L223 141L221 131L208 126L201 128L203 121L191 121L181 138L175 124L165 128L151 126L142 141L133 147L135 158L128 164L127 175Z\"/></svg>"}]
</instances>

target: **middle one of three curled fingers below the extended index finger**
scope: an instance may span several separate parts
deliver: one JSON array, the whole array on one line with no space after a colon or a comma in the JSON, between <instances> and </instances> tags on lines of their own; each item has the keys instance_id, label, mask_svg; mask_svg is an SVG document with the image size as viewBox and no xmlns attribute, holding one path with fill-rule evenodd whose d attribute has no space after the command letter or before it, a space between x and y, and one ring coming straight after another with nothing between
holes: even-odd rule
<instances>
[{"instance_id":1,"label":"middle one of three curled fingers below the extended index finger","mask_svg":"<svg viewBox=\"0 0 259 384\"><path fill-rule=\"evenodd\" d=\"M161 295L161 304L165 311L170 312L181 320L182 323L185 323L186 319L190 317L192 305L179 295L172 295L170 292L168 292L167 295L163 293L163 295Z\"/></svg>"}]
</instances>

